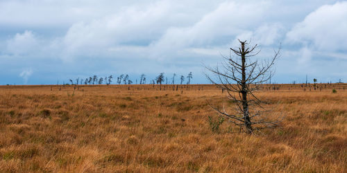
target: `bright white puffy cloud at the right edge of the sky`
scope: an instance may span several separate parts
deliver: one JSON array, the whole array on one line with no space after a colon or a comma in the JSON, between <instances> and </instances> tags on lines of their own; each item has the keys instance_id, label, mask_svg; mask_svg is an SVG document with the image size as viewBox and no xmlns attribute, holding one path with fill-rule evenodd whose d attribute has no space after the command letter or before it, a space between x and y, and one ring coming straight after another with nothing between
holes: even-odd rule
<instances>
[{"instance_id":1,"label":"bright white puffy cloud at the right edge of the sky","mask_svg":"<svg viewBox=\"0 0 347 173\"><path fill-rule=\"evenodd\" d=\"M287 42L321 51L347 51L347 1L321 6L287 33Z\"/></svg>"}]
</instances>

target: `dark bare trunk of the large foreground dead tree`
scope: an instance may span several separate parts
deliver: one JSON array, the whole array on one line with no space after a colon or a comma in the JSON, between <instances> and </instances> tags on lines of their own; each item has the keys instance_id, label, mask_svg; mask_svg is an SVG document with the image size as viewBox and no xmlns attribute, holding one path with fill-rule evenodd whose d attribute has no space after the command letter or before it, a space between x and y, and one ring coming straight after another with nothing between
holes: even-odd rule
<instances>
[{"instance_id":1,"label":"dark bare trunk of the large foreground dead tree","mask_svg":"<svg viewBox=\"0 0 347 173\"><path fill-rule=\"evenodd\" d=\"M247 133L251 134L253 129L251 125L251 118L249 118L248 113L248 102L247 102L247 86L246 86L246 53L244 51L244 42L242 42L242 106L244 108L244 125L246 127Z\"/></svg>"}]
</instances>

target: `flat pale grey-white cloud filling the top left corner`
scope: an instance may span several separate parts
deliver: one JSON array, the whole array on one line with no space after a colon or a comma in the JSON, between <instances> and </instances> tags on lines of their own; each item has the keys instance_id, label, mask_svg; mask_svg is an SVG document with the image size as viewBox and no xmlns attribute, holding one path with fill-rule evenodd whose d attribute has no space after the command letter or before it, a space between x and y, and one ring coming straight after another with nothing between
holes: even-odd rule
<instances>
[{"instance_id":1,"label":"flat pale grey-white cloud filling the top left corner","mask_svg":"<svg viewBox=\"0 0 347 173\"><path fill-rule=\"evenodd\" d=\"M148 1L113 0L2 0L0 1L0 24L9 26L69 27L76 21L90 21L123 6Z\"/></svg>"}]
</instances>

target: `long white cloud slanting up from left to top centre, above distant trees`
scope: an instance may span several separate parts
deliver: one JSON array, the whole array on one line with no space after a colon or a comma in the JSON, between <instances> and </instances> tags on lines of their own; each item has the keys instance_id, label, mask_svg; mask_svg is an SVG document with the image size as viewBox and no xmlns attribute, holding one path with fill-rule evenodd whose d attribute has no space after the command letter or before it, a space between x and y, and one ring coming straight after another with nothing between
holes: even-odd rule
<instances>
[{"instance_id":1,"label":"long white cloud slanting up from left to top centre, above distant trees","mask_svg":"<svg viewBox=\"0 0 347 173\"><path fill-rule=\"evenodd\" d=\"M193 1L187 3L194 4ZM211 7L207 9L209 8ZM187 6L173 1L155 1L146 6L124 7L119 12L90 22L73 24L62 39L64 52L66 56L74 57L81 52L105 55L110 50L115 53L115 50L119 51L119 48L124 47L126 50L147 47L147 53L150 50L160 51L156 48L153 50L151 44L171 27L189 26L201 13L203 11L193 12ZM132 54L132 51L128 53Z\"/></svg>"}]
</instances>

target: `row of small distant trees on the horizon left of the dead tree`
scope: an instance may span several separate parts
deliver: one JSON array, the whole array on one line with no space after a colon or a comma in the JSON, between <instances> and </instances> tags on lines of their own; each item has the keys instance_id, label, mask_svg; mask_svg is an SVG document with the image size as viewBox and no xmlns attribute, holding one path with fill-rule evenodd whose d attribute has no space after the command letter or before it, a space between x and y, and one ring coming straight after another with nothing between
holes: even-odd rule
<instances>
[{"instance_id":1,"label":"row of small distant trees on the horizon left of the dead tree","mask_svg":"<svg viewBox=\"0 0 347 173\"><path fill-rule=\"evenodd\" d=\"M175 84L175 78L176 73L174 73L173 77L171 78L171 81L168 80L167 77L164 76L164 73L160 73L155 79L149 80L149 84ZM185 77L184 75L180 75L180 84L183 84L185 82L185 78L187 78L187 84L191 84L193 79L192 72L188 73L188 75ZM76 78L76 80L69 79L69 82L71 84L111 84L112 83L113 76L106 76L105 78L98 78L97 75L93 75L89 78L85 78L83 80L82 78ZM146 84L146 75L142 74L139 77L139 84ZM64 82L65 84L65 82ZM133 84L133 81L130 80L129 75L127 74L121 74L117 77L117 84ZM137 80L136 80L137 84Z\"/></svg>"}]
</instances>

